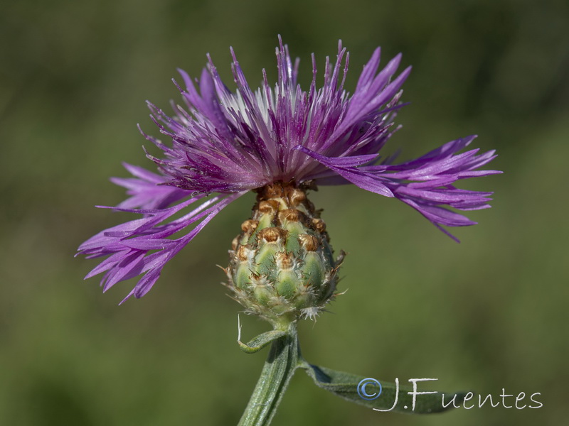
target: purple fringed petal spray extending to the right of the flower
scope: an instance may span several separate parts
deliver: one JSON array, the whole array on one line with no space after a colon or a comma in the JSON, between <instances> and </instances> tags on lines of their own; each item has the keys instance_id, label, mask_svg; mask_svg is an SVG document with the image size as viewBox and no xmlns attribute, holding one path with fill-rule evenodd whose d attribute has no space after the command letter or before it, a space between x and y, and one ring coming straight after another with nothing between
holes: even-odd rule
<instances>
[{"instance_id":1,"label":"purple fringed petal spray extending to the right of the flower","mask_svg":"<svg viewBox=\"0 0 569 426\"><path fill-rule=\"evenodd\" d=\"M489 207L487 202L491 192L461 190L453 186L454 182L473 176L485 176L501 173L497 170L473 170L485 165L496 155L494 151L477 155L478 150L457 153L476 136L457 139L444 146L422 155L416 160L399 165L365 165L365 155L353 158L330 158L304 147L299 151L310 155L319 163L334 170L342 178L358 187L371 192L382 193L399 200L418 210L432 224L445 231L442 226L469 226L476 224L447 207L459 210L476 210ZM333 177L324 178L329 183L340 183ZM318 182L318 181L317 181ZM385 195L385 194L383 194ZM452 234L445 234L458 241Z\"/></svg>"}]
</instances>

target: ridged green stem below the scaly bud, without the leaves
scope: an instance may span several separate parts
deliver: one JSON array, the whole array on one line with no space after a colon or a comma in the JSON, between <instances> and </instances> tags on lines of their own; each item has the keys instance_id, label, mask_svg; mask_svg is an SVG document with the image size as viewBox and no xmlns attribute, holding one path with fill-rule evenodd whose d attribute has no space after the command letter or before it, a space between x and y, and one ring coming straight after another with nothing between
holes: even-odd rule
<instances>
[{"instance_id":1,"label":"ridged green stem below the scaly bud, without the leaves","mask_svg":"<svg viewBox=\"0 0 569 426\"><path fill-rule=\"evenodd\" d=\"M297 329L293 323L290 324L286 336L272 342L255 391L238 426L270 424L290 378L299 366L299 356Z\"/></svg>"}]
</instances>

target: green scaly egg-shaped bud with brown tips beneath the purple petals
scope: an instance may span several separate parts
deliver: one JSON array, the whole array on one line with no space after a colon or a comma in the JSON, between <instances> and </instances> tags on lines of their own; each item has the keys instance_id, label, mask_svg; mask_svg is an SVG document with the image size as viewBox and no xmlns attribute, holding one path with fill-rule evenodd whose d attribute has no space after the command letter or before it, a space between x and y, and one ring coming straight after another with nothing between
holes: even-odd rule
<instances>
[{"instance_id":1,"label":"green scaly egg-shaped bud with brown tips beneath the purple petals","mask_svg":"<svg viewBox=\"0 0 569 426\"><path fill-rule=\"evenodd\" d=\"M326 225L307 199L306 187L275 182L257 190L252 218L233 239L228 288L250 314L275 327L314 318L336 292Z\"/></svg>"}]
</instances>

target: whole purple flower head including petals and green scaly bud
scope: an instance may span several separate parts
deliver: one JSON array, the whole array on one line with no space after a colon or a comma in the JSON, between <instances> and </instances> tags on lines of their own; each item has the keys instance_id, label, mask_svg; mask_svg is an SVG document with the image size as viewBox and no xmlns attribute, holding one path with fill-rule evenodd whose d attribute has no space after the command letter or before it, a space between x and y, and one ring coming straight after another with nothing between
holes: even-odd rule
<instances>
[{"instance_id":1,"label":"whole purple flower head including petals and green scaly bud","mask_svg":"<svg viewBox=\"0 0 569 426\"><path fill-rule=\"evenodd\" d=\"M397 74L400 55L378 72L376 49L349 94L344 90L349 53L339 43L334 65L326 58L320 88L312 56L312 83L303 91L297 84L299 61L293 65L287 45L279 41L274 87L263 70L260 88L252 91L231 50L234 92L208 57L195 80L198 88L184 71L184 84L174 82L184 107L173 104L169 116L149 104L151 118L171 143L143 133L164 151L164 158L147 153L159 173L125 164L134 178L112 179L130 197L107 208L142 217L105 229L80 246L89 258L108 256L86 278L104 272L101 285L107 290L142 274L124 300L142 297L164 265L221 209L255 191L252 217L230 250L228 287L248 312L272 322L281 316L313 317L334 297L342 256L334 258L307 190L353 183L409 204L448 235L442 226L475 223L452 209L489 207L491 192L454 187L460 179L499 173L479 170L495 157L494 151L459 153L475 136L404 163L380 157L398 129L393 118L403 106L401 86L410 72L407 67ZM172 219L184 210L188 212ZM191 230L169 238L184 229Z\"/></svg>"}]
</instances>

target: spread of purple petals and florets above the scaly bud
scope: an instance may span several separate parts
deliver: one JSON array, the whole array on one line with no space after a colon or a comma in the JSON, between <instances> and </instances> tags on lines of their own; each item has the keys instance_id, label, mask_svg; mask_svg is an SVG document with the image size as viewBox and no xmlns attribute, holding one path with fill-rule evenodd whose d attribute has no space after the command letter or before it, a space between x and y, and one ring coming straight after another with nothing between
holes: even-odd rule
<instances>
[{"instance_id":1,"label":"spread of purple petals and florets above the scaly bud","mask_svg":"<svg viewBox=\"0 0 569 426\"><path fill-rule=\"evenodd\" d=\"M321 88L312 55L312 83L306 92L297 84L298 60L293 65L287 45L279 41L274 87L263 70L261 87L253 92L231 50L235 92L225 87L208 57L208 66L195 80L198 88L184 71L180 73L185 88L175 82L185 108L173 104L174 115L169 116L149 104L151 118L171 143L143 133L164 151L164 158L147 153L159 174L125 164L134 178L112 179L126 187L130 197L117 207L105 208L142 217L105 229L80 246L79 253L88 258L108 256L86 278L105 272L101 285L107 290L144 274L124 300L142 297L166 262L223 207L245 192L277 181L353 183L409 204L448 235L442 226L475 223L448 207L489 207L491 192L454 187L460 179L500 173L478 170L495 158L494 151L459 153L476 136L445 143L406 163L380 158L379 151L398 129L393 118L403 106L400 88L410 72L407 67L396 74L401 55L378 72L380 49L376 49L349 94L344 91L349 53L339 43L334 65L326 58ZM172 219L184 209L190 211ZM191 231L170 238L184 229Z\"/></svg>"}]
</instances>

